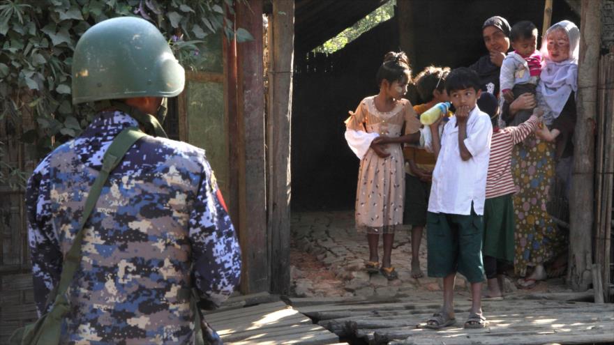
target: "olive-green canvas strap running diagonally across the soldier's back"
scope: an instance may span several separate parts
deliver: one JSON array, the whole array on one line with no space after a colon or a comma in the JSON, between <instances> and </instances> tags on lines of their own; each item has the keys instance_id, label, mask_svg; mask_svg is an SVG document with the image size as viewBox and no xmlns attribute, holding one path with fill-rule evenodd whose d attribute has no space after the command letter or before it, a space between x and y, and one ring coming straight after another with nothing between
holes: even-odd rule
<instances>
[{"instance_id":1,"label":"olive-green canvas strap running diagonally across the soldier's back","mask_svg":"<svg viewBox=\"0 0 614 345\"><path fill-rule=\"evenodd\" d=\"M68 250L68 254L64 257L60 282L57 287L57 294L52 309L41 326L40 335L46 339L45 344L57 344L57 342L59 342L61 320L69 311L66 291L68 291L68 286L70 286L70 282L73 281L75 272L77 272L77 268L79 268L82 259L81 244L83 241L85 223L89 215L91 215L91 211L96 206L98 197L100 197L100 192L107 178L109 178L111 171L121 162L123 155L126 155L130 146L133 146L138 139L145 135L146 134L141 132L138 128L125 128L115 137L104 155L103 167L96 177L96 180L93 182L89 190L89 195L85 201L85 207L79 223L79 231L77 231L77 235L75 236L73 245L71 245L70 250Z\"/></svg>"}]
</instances>

